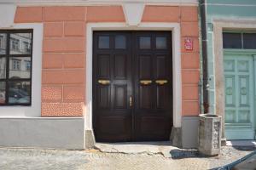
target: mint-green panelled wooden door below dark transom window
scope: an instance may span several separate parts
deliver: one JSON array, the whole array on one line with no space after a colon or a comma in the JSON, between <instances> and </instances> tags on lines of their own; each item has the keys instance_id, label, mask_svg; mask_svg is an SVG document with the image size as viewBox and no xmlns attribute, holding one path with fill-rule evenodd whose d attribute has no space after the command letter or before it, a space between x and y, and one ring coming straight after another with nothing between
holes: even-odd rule
<instances>
[{"instance_id":1,"label":"mint-green panelled wooden door below dark transom window","mask_svg":"<svg viewBox=\"0 0 256 170\"><path fill-rule=\"evenodd\" d=\"M227 139L254 139L253 55L224 54Z\"/></svg>"}]
</instances>

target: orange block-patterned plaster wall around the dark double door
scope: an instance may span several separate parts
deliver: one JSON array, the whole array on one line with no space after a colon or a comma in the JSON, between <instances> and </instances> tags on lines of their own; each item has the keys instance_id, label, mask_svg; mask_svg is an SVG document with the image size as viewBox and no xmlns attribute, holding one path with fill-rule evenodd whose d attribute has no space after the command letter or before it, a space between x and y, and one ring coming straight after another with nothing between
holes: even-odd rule
<instances>
[{"instance_id":1,"label":"orange block-patterned plaster wall around the dark double door","mask_svg":"<svg viewBox=\"0 0 256 170\"><path fill-rule=\"evenodd\" d=\"M24 22L44 23L41 115L84 116L85 26L93 22L125 23L122 7L18 7L15 23ZM143 22L181 24L182 115L197 116L200 112L197 7L148 5L144 8ZM193 39L193 50L184 49L185 37Z\"/></svg>"}]
</instances>

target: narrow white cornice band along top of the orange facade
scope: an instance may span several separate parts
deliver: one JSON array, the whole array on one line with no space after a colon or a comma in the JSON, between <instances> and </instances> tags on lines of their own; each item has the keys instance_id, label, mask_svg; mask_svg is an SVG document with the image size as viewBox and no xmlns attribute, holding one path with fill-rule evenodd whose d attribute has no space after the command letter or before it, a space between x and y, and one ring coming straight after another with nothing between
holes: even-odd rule
<instances>
[{"instance_id":1,"label":"narrow white cornice band along top of the orange facade","mask_svg":"<svg viewBox=\"0 0 256 170\"><path fill-rule=\"evenodd\" d=\"M0 0L3 3L12 3L19 6L37 6L37 5L123 5L124 3L144 3L148 5L168 5L168 6L197 6L197 0Z\"/></svg>"}]
</instances>

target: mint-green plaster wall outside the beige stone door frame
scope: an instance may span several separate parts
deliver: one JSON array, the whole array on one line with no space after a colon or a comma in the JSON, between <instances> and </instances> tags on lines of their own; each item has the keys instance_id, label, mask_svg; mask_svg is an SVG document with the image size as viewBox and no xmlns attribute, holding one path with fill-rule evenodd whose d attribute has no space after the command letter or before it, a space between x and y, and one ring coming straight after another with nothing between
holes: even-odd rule
<instances>
[{"instance_id":1,"label":"mint-green plaster wall outside the beige stone door frame","mask_svg":"<svg viewBox=\"0 0 256 170\"><path fill-rule=\"evenodd\" d=\"M218 114L218 96L215 79L215 54L213 44L216 35L213 34L214 20L255 20L256 2L254 0L208 0L207 1L207 38L208 38L208 73L210 112ZM232 30L232 28L229 28ZM241 28L241 30L246 28Z\"/></svg>"}]
</instances>

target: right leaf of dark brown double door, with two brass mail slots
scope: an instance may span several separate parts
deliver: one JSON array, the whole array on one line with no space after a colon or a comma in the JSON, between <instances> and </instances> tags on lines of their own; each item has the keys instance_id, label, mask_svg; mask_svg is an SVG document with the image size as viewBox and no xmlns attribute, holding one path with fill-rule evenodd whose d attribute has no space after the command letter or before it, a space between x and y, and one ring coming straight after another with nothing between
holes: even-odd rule
<instances>
[{"instance_id":1,"label":"right leaf of dark brown double door, with two brass mail slots","mask_svg":"<svg viewBox=\"0 0 256 170\"><path fill-rule=\"evenodd\" d=\"M172 38L169 32L136 32L134 37L135 139L168 140L172 128ZM157 46L156 37L164 37L168 48ZM152 82L143 84L143 80ZM159 84L159 80L166 82Z\"/></svg>"}]
</instances>

